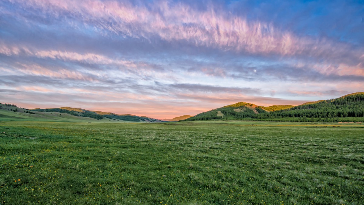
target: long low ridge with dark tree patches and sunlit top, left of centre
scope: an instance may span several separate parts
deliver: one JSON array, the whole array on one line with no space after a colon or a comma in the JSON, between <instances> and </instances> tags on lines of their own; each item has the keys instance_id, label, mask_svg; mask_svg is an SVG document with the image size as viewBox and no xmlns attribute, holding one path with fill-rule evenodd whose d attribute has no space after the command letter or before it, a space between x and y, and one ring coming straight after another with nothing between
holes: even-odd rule
<instances>
[{"instance_id":1,"label":"long low ridge with dark tree patches and sunlit top, left of centre","mask_svg":"<svg viewBox=\"0 0 364 205\"><path fill-rule=\"evenodd\" d=\"M32 111L39 111L39 112L61 112L61 113L68 113L74 116L82 116L82 117L91 117L94 119L103 119L104 117L108 119L114 120L124 120L124 121L132 121L132 122L162 122L161 120L154 119L151 117L146 116L136 116L136 115L119 115L112 112L102 112L102 111L90 111L81 108L71 108L71 107L62 107L62 108L48 108L48 109L32 109Z\"/></svg>"}]
</instances>

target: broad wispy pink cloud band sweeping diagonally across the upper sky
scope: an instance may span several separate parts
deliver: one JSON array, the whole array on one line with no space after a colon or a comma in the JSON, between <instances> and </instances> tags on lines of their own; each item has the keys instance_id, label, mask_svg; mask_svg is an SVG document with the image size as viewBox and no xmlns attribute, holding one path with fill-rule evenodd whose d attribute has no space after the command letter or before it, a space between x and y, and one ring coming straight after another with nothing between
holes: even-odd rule
<instances>
[{"instance_id":1,"label":"broad wispy pink cloud band sweeping diagonally across the upper sky","mask_svg":"<svg viewBox=\"0 0 364 205\"><path fill-rule=\"evenodd\" d=\"M266 22L248 22L209 5L198 11L187 4L159 1L158 4L135 6L117 1L13 0L25 7L40 8L54 16L70 12L78 20L96 27L135 38L157 35L167 41L188 40L196 46L223 50L248 51L254 54L323 55L333 58L351 53L359 59L363 52L351 51L344 43L311 39L281 31ZM76 18L76 17L75 17ZM115 21L110 26L108 22Z\"/></svg>"}]
</instances>

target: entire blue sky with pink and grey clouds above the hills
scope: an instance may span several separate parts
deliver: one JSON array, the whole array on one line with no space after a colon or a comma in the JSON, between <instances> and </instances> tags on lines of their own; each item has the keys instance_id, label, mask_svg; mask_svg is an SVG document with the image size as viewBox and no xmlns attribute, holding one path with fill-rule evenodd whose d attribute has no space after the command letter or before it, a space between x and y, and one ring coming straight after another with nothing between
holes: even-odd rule
<instances>
[{"instance_id":1,"label":"entire blue sky with pink and grey clouds above the hills","mask_svg":"<svg viewBox=\"0 0 364 205\"><path fill-rule=\"evenodd\" d=\"M0 102L157 119L364 90L364 1L0 0Z\"/></svg>"}]
</instances>

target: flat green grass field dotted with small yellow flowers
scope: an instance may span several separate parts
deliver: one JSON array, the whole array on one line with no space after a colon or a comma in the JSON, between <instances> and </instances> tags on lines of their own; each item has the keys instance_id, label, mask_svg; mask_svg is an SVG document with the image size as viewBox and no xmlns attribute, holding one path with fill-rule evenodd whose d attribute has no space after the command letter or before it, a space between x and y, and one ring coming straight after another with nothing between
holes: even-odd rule
<instances>
[{"instance_id":1,"label":"flat green grass field dotted with small yellow flowers","mask_svg":"<svg viewBox=\"0 0 364 205\"><path fill-rule=\"evenodd\" d=\"M0 122L0 204L363 204L364 125L338 125Z\"/></svg>"}]
</instances>

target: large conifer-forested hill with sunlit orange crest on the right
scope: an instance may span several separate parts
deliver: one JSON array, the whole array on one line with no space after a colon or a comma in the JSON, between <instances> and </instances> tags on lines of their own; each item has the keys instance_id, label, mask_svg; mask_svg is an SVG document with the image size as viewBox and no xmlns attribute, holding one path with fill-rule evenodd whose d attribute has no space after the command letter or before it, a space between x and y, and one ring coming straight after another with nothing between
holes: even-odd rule
<instances>
[{"instance_id":1,"label":"large conifer-forested hill with sunlit orange crest on the right","mask_svg":"<svg viewBox=\"0 0 364 205\"><path fill-rule=\"evenodd\" d=\"M297 118L298 117L298 118ZM339 121L338 118L364 117L364 92L352 93L343 97L306 102L302 105L273 105L262 107L247 102L238 102L222 108L199 113L183 121L212 119L279 119L312 121ZM293 119L295 118L295 119Z\"/></svg>"}]
</instances>

